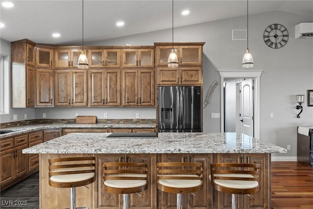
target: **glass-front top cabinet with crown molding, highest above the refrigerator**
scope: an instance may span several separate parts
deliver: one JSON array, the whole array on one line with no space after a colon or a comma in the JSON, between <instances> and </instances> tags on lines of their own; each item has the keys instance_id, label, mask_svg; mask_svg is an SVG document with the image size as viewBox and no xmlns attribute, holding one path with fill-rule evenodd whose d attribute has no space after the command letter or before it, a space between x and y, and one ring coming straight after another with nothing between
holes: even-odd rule
<instances>
[{"instance_id":1,"label":"glass-front top cabinet with crown molding, highest above the refrigerator","mask_svg":"<svg viewBox=\"0 0 313 209\"><path fill-rule=\"evenodd\" d=\"M204 43L174 43L174 49L179 58L179 65L201 66L202 46ZM172 43L155 43L156 65L167 66L168 56L173 48Z\"/></svg>"}]
</instances>

